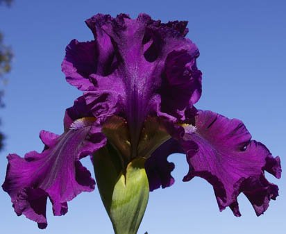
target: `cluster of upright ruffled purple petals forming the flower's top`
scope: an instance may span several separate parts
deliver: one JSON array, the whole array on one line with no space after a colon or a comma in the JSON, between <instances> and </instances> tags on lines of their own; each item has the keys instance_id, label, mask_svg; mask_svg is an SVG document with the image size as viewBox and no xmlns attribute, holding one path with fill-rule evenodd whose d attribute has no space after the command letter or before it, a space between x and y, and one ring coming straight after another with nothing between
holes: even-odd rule
<instances>
[{"instance_id":1,"label":"cluster of upright ruffled purple petals forming the flower's top","mask_svg":"<svg viewBox=\"0 0 286 234\"><path fill-rule=\"evenodd\" d=\"M73 41L62 70L76 87L85 79L87 88L80 88L87 91L84 97L96 117L124 117L133 146L147 115L185 118L185 109L201 96L201 72L196 68L199 50L185 38L187 22L162 24L144 14L137 19L99 14L86 24L95 40L88 45Z\"/></svg>"}]
</instances>

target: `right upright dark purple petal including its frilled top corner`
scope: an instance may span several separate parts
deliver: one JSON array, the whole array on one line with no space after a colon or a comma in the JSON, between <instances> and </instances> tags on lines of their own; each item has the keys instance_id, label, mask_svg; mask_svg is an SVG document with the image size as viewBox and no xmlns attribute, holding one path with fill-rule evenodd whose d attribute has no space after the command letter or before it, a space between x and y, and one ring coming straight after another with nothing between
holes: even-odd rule
<instances>
[{"instance_id":1,"label":"right upright dark purple petal including its frilled top corner","mask_svg":"<svg viewBox=\"0 0 286 234\"><path fill-rule=\"evenodd\" d=\"M183 119L184 110L201 97L201 71L196 67L199 49L184 38L187 22L153 22L149 26L151 58L164 58L160 96L162 112ZM166 45L165 47L162 45ZM161 51L160 49L161 48ZM160 53L158 53L160 51Z\"/></svg>"}]
</instances>

